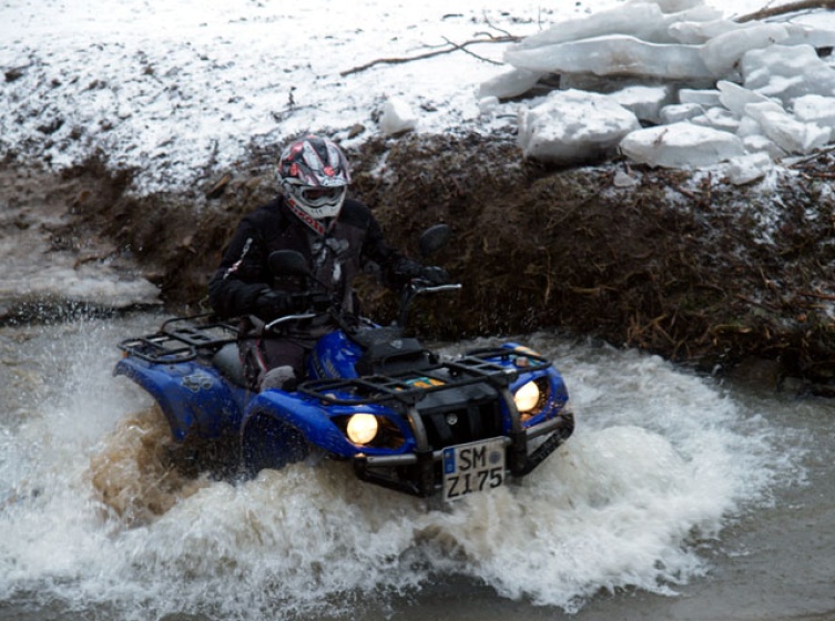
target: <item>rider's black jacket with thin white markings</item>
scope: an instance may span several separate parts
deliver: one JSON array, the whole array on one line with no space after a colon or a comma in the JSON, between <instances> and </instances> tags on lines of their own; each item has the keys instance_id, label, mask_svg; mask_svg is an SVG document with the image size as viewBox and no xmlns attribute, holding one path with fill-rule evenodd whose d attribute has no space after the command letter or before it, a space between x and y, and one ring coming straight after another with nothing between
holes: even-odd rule
<instances>
[{"instance_id":1,"label":"rider's black jacket with thin white markings","mask_svg":"<svg viewBox=\"0 0 835 621\"><path fill-rule=\"evenodd\" d=\"M346 309L352 308L352 283L359 271L379 271L384 285L398 288L420 269L386 244L377 220L363 203L346 198L336 223L322 236L278 196L246 215L225 248L208 283L208 299L216 315L255 314L258 294L271 287L302 291L298 279L276 282L271 274L267 257L278 250L302 253L323 283L313 288L338 295Z\"/></svg>"}]
</instances>

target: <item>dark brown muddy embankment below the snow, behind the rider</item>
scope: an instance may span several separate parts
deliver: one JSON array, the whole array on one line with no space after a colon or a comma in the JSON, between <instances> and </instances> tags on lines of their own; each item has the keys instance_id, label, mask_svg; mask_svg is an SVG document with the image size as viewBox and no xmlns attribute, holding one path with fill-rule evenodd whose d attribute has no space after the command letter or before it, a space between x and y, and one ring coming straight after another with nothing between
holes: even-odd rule
<instances>
[{"instance_id":1,"label":"dark brown muddy embankment below the snow, behind the rider","mask_svg":"<svg viewBox=\"0 0 835 621\"><path fill-rule=\"evenodd\" d=\"M407 136L349 156L354 192L393 244L414 254L424 227L455 231L431 262L464 289L419 304L424 335L556 328L835 394L828 152L749 186L623 162L548 170L522 162L510 138ZM196 312L235 224L275 192L273 157L252 153L191 194L143 198L125 193L130 171L92 161L52 179L48 194L65 214L48 233L80 251L104 241L108 256L88 251L86 261L133 263L172 310ZM619 172L631 182L615 185ZM390 294L360 288L366 314L393 316Z\"/></svg>"}]
</instances>

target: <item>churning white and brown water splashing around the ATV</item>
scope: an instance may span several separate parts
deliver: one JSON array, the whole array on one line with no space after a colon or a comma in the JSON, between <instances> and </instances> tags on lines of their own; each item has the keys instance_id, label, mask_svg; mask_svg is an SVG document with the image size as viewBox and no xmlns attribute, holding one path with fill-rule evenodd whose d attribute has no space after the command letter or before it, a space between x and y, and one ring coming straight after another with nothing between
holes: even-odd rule
<instances>
[{"instance_id":1,"label":"churning white and brown water splashing around the ATV","mask_svg":"<svg viewBox=\"0 0 835 621\"><path fill-rule=\"evenodd\" d=\"M523 340L562 370L578 428L519 486L438 509L338 462L190 478L150 398L111 376L115 343L157 319L0 330L0 602L336 618L464 576L576 611L601 590L672 593L702 576L700 548L796 459L703 378L538 334Z\"/></svg>"}]
</instances>

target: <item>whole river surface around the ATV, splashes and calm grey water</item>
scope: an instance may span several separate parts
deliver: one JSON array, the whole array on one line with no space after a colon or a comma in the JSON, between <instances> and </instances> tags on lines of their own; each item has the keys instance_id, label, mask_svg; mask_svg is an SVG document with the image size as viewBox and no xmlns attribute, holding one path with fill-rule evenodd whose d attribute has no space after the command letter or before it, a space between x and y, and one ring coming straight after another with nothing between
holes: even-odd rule
<instances>
[{"instance_id":1,"label":"whole river surface around the ATV, splashes and calm grey water","mask_svg":"<svg viewBox=\"0 0 835 621\"><path fill-rule=\"evenodd\" d=\"M1 620L835 619L832 401L536 334L578 427L518 487L438 508L330 462L232 483L167 468L111 375L159 320L0 328Z\"/></svg>"}]
</instances>

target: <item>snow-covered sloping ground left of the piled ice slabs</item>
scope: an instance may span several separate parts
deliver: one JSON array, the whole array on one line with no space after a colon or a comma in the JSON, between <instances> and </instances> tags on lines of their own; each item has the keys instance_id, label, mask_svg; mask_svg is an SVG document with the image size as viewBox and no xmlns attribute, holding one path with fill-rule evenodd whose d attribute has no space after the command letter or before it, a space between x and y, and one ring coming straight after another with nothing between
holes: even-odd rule
<instances>
[{"instance_id":1,"label":"snow-covered sloping ground left of the piled ice slabs","mask_svg":"<svg viewBox=\"0 0 835 621\"><path fill-rule=\"evenodd\" d=\"M505 45L468 54L452 43L533 34L541 19L581 10L536 0L308 0L292 10L220 0L0 2L0 159L20 154L60 170L101 153L136 170L134 191L145 194L191 187L235 166L253 143L279 151L308 131L357 143L409 130L491 132L473 91L506 69L487 62L500 63ZM449 53L344 74L439 50Z\"/></svg>"}]
</instances>

